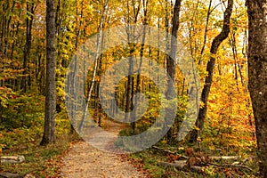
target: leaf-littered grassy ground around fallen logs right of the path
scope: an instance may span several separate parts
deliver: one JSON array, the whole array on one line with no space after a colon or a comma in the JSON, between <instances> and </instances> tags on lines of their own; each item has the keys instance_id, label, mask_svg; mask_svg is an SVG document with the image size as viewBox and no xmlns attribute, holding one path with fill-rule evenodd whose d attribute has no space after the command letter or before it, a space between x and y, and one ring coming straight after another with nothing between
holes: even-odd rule
<instances>
[{"instance_id":1,"label":"leaf-littered grassy ground around fallen logs right of the path","mask_svg":"<svg viewBox=\"0 0 267 178\"><path fill-rule=\"evenodd\" d=\"M120 135L129 135L127 131L121 131ZM163 178L163 177L214 177L214 178L226 178L226 177L256 177L258 167L256 162L256 155L254 150L249 148L229 148L228 151L223 148L210 149L209 142L201 142L200 148L196 144L189 144L187 142L173 142L168 144L165 139L162 139L155 145L157 148L151 147L148 150L142 150L141 152L127 155L129 162L134 163L136 167L142 167L151 177ZM172 154L166 152L169 150L178 155L186 155L186 149L193 148L194 150L200 150L201 153L212 156L240 156L238 160L213 160L213 163L220 166L206 165L203 168L203 173L194 173L190 169L178 170L172 166L161 166L160 162L169 162L168 157ZM188 157L189 158L189 157ZM234 165L247 166L254 170L253 172L246 168L236 167ZM226 166L233 165L233 166Z\"/></svg>"}]
</instances>

